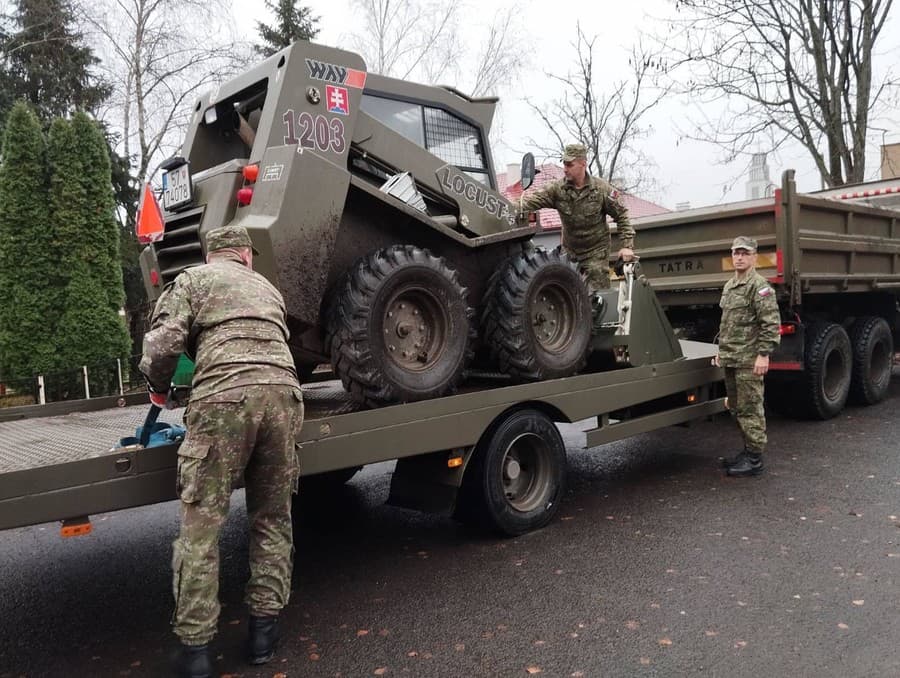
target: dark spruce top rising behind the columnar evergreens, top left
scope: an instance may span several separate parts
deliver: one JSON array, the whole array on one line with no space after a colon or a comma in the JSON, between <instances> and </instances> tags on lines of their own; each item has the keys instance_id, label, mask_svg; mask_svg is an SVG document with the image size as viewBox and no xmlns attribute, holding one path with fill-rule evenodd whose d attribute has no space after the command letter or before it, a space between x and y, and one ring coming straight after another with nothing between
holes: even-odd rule
<instances>
[{"instance_id":1,"label":"dark spruce top rising behind the columnar evergreens, top left","mask_svg":"<svg viewBox=\"0 0 900 678\"><path fill-rule=\"evenodd\" d=\"M109 96L110 88L91 72L99 60L82 44L70 0L16 0L10 19L12 27L0 33L7 106L25 99L49 122L77 109L95 110ZM7 110L0 108L0 124Z\"/></svg>"}]
</instances>

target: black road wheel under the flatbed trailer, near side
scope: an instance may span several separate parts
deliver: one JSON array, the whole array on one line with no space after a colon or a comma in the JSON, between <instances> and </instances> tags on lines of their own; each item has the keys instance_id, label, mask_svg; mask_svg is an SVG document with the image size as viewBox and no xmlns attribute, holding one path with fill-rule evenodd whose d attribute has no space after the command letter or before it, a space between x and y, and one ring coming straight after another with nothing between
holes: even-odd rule
<instances>
[{"instance_id":1,"label":"black road wheel under the flatbed trailer, near side","mask_svg":"<svg viewBox=\"0 0 900 678\"><path fill-rule=\"evenodd\" d=\"M466 469L458 517L508 536L549 523L565 490L566 448L556 425L537 410L496 421Z\"/></svg>"}]
</instances>

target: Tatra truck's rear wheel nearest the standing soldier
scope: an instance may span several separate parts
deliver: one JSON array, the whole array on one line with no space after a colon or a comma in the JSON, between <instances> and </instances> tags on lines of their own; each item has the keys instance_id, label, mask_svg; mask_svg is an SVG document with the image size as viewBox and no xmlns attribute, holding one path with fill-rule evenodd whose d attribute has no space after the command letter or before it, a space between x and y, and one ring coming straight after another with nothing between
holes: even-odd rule
<instances>
[{"instance_id":1,"label":"Tatra truck's rear wheel nearest the standing soldier","mask_svg":"<svg viewBox=\"0 0 900 678\"><path fill-rule=\"evenodd\" d=\"M831 419L847 402L853 355L850 338L835 323L816 323L806 334L805 414Z\"/></svg>"}]
</instances>

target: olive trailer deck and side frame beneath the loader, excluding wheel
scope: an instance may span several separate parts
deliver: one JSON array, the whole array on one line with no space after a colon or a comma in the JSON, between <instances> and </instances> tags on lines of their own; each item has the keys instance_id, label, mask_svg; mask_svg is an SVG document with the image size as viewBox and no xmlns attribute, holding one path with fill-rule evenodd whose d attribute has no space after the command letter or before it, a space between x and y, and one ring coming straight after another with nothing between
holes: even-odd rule
<instances>
[{"instance_id":1,"label":"olive trailer deck and side frame beneath the loader, excluding wheel","mask_svg":"<svg viewBox=\"0 0 900 678\"><path fill-rule=\"evenodd\" d=\"M681 343L685 358L673 362L531 384L473 384L454 396L374 410L358 410L339 382L306 385L302 473L471 448L495 418L524 405L558 422L597 417L588 447L722 411L709 388L721 379L710 364L715 347ZM702 391L696 401L627 416L628 408L692 389ZM146 396L140 400L0 421L0 529L174 499L177 445L113 447L143 422ZM164 412L161 420L180 423L182 413Z\"/></svg>"}]
</instances>

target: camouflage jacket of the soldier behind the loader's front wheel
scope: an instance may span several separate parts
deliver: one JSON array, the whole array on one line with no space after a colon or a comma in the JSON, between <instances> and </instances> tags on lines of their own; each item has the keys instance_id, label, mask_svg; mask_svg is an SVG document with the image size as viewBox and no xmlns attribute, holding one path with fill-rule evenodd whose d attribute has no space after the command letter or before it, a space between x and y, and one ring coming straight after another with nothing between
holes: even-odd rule
<instances>
[{"instance_id":1,"label":"camouflage jacket of the soldier behind the loader's front wheel","mask_svg":"<svg viewBox=\"0 0 900 678\"><path fill-rule=\"evenodd\" d=\"M581 188L575 188L565 179L554 181L522 198L521 210L531 212L552 207L559 212L563 247L575 257L601 250L609 252L607 216L618 226L619 246L634 247L634 227L628 220L628 210L619 201L619 192L605 179L591 176L587 179L588 183Z\"/></svg>"}]
</instances>

